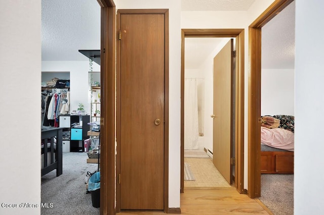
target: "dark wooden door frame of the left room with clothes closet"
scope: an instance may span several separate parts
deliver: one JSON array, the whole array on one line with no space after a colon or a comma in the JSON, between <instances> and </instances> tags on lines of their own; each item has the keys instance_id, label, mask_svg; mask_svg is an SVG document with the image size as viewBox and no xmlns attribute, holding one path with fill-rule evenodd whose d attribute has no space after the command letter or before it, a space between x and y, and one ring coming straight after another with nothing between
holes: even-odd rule
<instances>
[{"instance_id":1,"label":"dark wooden door frame of the left room with clothes closet","mask_svg":"<svg viewBox=\"0 0 324 215\"><path fill-rule=\"evenodd\" d=\"M100 214L115 214L115 55L113 0L97 0L101 7Z\"/></svg>"}]
</instances>

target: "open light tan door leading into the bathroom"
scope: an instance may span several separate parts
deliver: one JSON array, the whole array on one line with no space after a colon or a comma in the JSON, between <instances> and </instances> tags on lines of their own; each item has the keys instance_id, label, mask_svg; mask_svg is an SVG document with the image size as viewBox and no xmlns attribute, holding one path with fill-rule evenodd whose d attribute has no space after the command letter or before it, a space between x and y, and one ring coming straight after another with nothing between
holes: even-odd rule
<instances>
[{"instance_id":1,"label":"open light tan door leading into the bathroom","mask_svg":"<svg viewBox=\"0 0 324 215\"><path fill-rule=\"evenodd\" d=\"M230 39L214 58L213 163L229 184L232 184L232 51L233 39Z\"/></svg>"}]
</instances>

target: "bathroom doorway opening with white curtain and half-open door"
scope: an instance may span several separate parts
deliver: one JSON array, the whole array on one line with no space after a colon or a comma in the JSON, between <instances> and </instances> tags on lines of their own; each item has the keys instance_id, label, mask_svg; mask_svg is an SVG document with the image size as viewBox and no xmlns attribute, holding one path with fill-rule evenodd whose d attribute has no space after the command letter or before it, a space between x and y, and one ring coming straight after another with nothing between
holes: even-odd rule
<instances>
[{"instance_id":1,"label":"bathroom doorway opening with white curtain and half-open door","mask_svg":"<svg viewBox=\"0 0 324 215\"><path fill-rule=\"evenodd\" d=\"M219 63L214 63L218 59L221 52L226 48L223 47L227 41L232 42L230 38L185 38L185 70L184 70L184 186L186 188L197 187L231 187L231 177L229 171L231 165L222 164L223 160L227 160L223 156L230 156L232 153L224 153L224 145L226 149L230 149L232 143L230 138L231 129L222 125L215 126L215 123L220 120L219 111L218 117L214 117L216 112L213 110L217 105L225 103L229 105L223 117L230 117L231 109L231 89L230 82L234 66L230 51L224 55L225 59L229 58L228 67L223 71L229 78L228 83L222 80L224 84L220 84L219 75L215 74L219 70ZM224 49L224 50L223 50ZM222 59L223 60L223 59ZM217 60L216 60L217 61ZM224 65L224 61L222 61ZM232 70L233 71L233 70ZM227 74L228 73L228 74ZM222 74L222 73L221 73ZM225 79L226 79L225 78ZM215 82L215 83L214 83ZM222 89L217 88L222 85ZM224 87L228 85L228 87ZM214 99L214 95L220 92L224 94L225 100L219 98ZM225 93L223 91L228 91ZM227 127L230 127L231 120L225 120ZM215 129L214 129L215 128ZM226 129L226 140L222 141L221 146L214 147L214 132ZM217 135L220 136L220 135ZM233 148L233 147L232 147ZM216 149L216 150L215 150ZM215 150L215 151L214 151ZM217 152L220 152L218 153ZM216 153L215 153L216 152ZM219 162L221 160L221 162ZM222 168L222 167L225 168ZM225 172L220 171L225 170ZM230 167L230 168L228 168ZM226 176L226 177L225 177Z\"/></svg>"}]
</instances>

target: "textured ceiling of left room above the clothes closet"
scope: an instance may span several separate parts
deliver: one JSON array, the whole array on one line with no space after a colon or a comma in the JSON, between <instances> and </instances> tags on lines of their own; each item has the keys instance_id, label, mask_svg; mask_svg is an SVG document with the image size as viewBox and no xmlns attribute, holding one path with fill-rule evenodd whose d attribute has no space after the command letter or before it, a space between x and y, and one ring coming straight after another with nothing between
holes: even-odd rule
<instances>
[{"instance_id":1,"label":"textured ceiling of left room above the clothes closet","mask_svg":"<svg viewBox=\"0 0 324 215\"><path fill-rule=\"evenodd\" d=\"M87 61L78 49L100 49L95 0L42 0L42 61Z\"/></svg>"}]
</instances>

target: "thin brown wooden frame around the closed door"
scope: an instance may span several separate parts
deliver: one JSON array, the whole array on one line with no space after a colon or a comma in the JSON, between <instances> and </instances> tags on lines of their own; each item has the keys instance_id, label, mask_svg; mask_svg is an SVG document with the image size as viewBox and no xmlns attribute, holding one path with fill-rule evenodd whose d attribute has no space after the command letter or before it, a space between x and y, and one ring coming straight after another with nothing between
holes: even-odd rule
<instances>
[{"instance_id":1,"label":"thin brown wooden frame around the closed door","mask_svg":"<svg viewBox=\"0 0 324 215\"><path fill-rule=\"evenodd\" d=\"M169 9L120 9L117 11L116 31L121 14L163 14L165 16L165 81L164 81L164 212L178 213L180 208L169 208ZM116 42L116 176L120 174L120 40ZM120 185L116 177L116 212L120 212Z\"/></svg>"}]
</instances>

